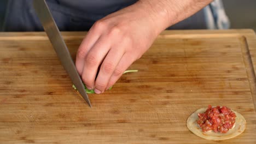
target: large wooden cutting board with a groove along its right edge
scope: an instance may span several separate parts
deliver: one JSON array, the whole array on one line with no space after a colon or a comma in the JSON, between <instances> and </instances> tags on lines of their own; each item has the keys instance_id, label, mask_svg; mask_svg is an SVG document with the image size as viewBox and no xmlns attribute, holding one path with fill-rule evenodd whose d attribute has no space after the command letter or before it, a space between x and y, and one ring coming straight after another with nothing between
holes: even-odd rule
<instances>
[{"instance_id":1,"label":"large wooden cutting board with a groove along its right edge","mask_svg":"<svg viewBox=\"0 0 256 144\"><path fill-rule=\"evenodd\" d=\"M75 58L85 33L62 34ZM255 68L252 30L165 31L90 108L45 33L0 33L0 143L256 143ZM191 133L187 118L208 104L240 112L245 132Z\"/></svg>"}]
</instances>

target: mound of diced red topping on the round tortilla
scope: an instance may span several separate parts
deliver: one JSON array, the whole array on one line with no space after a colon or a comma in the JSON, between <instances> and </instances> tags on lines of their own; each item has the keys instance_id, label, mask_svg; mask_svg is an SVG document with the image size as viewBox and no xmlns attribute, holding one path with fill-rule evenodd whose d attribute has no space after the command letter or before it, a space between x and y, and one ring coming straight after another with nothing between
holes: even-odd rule
<instances>
[{"instance_id":1,"label":"mound of diced red topping on the round tortilla","mask_svg":"<svg viewBox=\"0 0 256 144\"><path fill-rule=\"evenodd\" d=\"M226 133L234 126L236 120L236 114L226 106L208 105L205 113L198 113L198 117L197 123L202 131L213 130L215 133Z\"/></svg>"}]
</instances>

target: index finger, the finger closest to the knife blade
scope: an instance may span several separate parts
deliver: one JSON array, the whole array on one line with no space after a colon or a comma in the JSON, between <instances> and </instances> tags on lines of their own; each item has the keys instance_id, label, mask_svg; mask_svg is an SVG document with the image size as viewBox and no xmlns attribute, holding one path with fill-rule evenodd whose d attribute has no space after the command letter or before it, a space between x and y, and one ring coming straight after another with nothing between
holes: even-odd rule
<instances>
[{"instance_id":1,"label":"index finger, the finger closest to the knife blade","mask_svg":"<svg viewBox=\"0 0 256 144\"><path fill-rule=\"evenodd\" d=\"M94 46L96 41L100 38L104 27L105 26L102 24L102 22L96 22L80 44L75 60L75 66L77 67L78 73L80 75L83 73L85 56L90 51L91 47Z\"/></svg>"}]
</instances>

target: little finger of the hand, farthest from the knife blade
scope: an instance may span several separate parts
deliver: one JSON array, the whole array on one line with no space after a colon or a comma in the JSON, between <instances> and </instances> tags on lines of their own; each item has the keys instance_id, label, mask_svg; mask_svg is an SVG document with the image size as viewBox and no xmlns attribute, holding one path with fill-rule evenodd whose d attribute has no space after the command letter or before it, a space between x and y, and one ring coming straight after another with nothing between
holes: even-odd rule
<instances>
[{"instance_id":1,"label":"little finger of the hand, farthest from the knife blade","mask_svg":"<svg viewBox=\"0 0 256 144\"><path fill-rule=\"evenodd\" d=\"M130 65L136 61L136 58L133 57L132 53L125 53L124 56L121 58L120 62L118 63L117 67L115 67L115 70L110 77L107 85L107 89L112 87L115 82L118 81L118 79L123 75L124 71L130 67Z\"/></svg>"}]
</instances>

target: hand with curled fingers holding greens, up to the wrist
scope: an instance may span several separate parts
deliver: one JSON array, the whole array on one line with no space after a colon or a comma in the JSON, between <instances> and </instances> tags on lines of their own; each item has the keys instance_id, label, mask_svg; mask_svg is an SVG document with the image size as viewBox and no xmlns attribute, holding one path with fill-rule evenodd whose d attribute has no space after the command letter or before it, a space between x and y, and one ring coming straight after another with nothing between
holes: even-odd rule
<instances>
[{"instance_id":1,"label":"hand with curled fingers holding greens, up to the wrist","mask_svg":"<svg viewBox=\"0 0 256 144\"><path fill-rule=\"evenodd\" d=\"M86 87L100 94L113 86L157 35L147 11L133 5L97 21L79 46L75 62Z\"/></svg>"}]
</instances>

